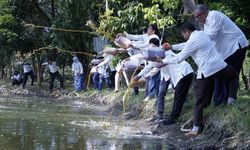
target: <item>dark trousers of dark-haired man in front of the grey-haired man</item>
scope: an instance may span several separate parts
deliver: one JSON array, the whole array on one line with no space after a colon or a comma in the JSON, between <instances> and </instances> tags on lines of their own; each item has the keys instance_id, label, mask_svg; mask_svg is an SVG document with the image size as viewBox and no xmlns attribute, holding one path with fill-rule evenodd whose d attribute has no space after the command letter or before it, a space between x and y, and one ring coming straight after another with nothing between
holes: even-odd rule
<instances>
[{"instance_id":1,"label":"dark trousers of dark-haired man in front of the grey-haired man","mask_svg":"<svg viewBox=\"0 0 250 150\"><path fill-rule=\"evenodd\" d=\"M207 78L197 79L195 83L195 98L196 103L194 107L194 125L203 125L203 109L211 103L214 93L214 79L227 79L229 81L229 96L235 97L237 95L237 86L235 86L235 79L237 79L237 71L234 67L227 65L226 68L217 72L216 74Z\"/></svg>"}]
</instances>

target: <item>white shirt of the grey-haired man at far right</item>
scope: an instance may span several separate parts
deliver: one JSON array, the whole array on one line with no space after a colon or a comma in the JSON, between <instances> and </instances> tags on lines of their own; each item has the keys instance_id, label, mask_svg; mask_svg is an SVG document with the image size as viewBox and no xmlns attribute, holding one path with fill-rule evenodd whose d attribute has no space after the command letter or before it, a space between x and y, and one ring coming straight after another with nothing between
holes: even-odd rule
<instances>
[{"instance_id":1,"label":"white shirt of the grey-haired man at far right","mask_svg":"<svg viewBox=\"0 0 250 150\"><path fill-rule=\"evenodd\" d=\"M225 60L241 48L248 46L248 40L240 28L226 15L219 11L209 11L205 24L206 32L215 48Z\"/></svg>"}]
</instances>

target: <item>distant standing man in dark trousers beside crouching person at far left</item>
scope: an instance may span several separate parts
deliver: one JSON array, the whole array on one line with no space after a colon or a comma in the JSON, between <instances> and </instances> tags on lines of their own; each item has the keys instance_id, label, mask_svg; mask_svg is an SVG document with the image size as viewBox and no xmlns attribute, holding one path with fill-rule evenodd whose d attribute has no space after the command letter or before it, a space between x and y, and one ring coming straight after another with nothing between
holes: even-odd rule
<instances>
[{"instance_id":1,"label":"distant standing man in dark trousers beside crouching person at far left","mask_svg":"<svg viewBox=\"0 0 250 150\"><path fill-rule=\"evenodd\" d=\"M28 76L31 77L31 86L34 85L35 75L34 75L31 65L28 62L24 62L22 65L23 65L23 85L22 86L24 89L26 86L26 82L28 80Z\"/></svg>"}]
</instances>

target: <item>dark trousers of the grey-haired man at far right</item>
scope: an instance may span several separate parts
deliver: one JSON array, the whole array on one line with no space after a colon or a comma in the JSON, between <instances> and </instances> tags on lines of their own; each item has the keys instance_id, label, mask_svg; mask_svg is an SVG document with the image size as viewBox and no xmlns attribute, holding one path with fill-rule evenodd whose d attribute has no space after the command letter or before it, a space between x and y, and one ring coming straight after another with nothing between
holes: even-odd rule
<instances>
[{"instance_id":1,"label":"dark trousers of the grey-haired man at far right","mask_svg":"<svg viewBox=\"0 0 250 150\"><path fill-rule=\"evenodd\" d=\"M238 49L234 54L229 56L225 62L236 68L238 72L238 77L235 79L236 86L239 87L239 74L243 66L243 61L246 56L247 48ZM215 105L220 105L221 103L226 104L229 96L229 81L227 79L215 78L214 80L214 97L213 101ZM238 90L238 89L237 89ZM232 97L237 99L236 97Z\"/></svg>"}]
</instances>

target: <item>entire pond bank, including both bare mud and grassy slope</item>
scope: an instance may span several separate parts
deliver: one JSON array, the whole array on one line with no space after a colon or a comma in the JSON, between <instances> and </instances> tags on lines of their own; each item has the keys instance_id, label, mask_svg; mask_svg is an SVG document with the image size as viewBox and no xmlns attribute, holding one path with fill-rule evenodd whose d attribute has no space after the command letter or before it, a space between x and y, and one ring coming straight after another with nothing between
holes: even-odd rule
<instances>
[{"instance_id":1,"label":"entire pond bank, including both bare mud and grassy slope","mask_svg":"<svg viewBox=\"0 0 250 150\"><path fill-rule=\"evenodd\" d=\"M38 86L27 86L26 89L14 87L1 81L0 94L2 97L29 97L49 98L53 100L69 100L87 103L95 107L104 115L116 116L123 120L124 124L135 127L136 133L141 135L159 136L177 149L247 149L250 145L250 94L240 91L239 101L234 106L210 106L206 114L206 126L204 132L195 139L188 139L180 131L181 126L192 116L194 99L192 93L185 103L182 116L176 124L169 126L151 125L149 122L154 114L154 101L143 102L143 92L139 96L130 96L128 109L123 110L122 97L125 89L118 93L113 91L98 92L90 90L87 92L74 92L73 89L57 90L49 94L47 83ZM166 96L166 114L172 106L172 93ZM100 124L105 130L111 130L112 125ZM131 131L131 134L133 131Z\"/></svg>"}]
</instances>

